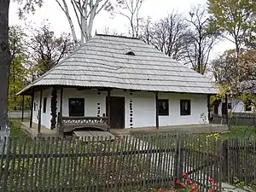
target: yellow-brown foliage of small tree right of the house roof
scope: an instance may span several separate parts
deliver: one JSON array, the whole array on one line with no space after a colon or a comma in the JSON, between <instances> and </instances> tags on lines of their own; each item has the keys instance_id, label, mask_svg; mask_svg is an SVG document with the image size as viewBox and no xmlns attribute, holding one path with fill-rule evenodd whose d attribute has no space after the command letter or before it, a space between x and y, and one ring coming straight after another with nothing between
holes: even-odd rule
<instances>
[{"instance_id":1,"label":"yellow-brown foliage of small tree right of the house roof","mask_svg":"<svg viewBox=\"0 0 256 192\"><path fill-rule=\"evenodd\" d=\"M218 97L241 96L250 91L252 80L256 79L256 50L240 49L240 55L236 55L236 49L229 49L220 55L217 65L218 84L216 85Z\"/></svg>"}]
</instances>

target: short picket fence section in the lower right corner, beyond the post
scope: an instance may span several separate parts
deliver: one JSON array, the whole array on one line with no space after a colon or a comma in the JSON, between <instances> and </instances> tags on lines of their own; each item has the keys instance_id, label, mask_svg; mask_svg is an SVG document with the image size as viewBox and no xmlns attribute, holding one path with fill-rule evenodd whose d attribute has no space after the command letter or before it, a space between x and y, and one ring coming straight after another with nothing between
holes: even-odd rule
<instances>
[{"instance_id":1,"label":"short picket fence section in the lower right corner, beyond the post","mask_svg":"<svg viewBox=\"0 0 256 192\"><path fill-rule=\"evenodd\" d=\"M222 146L223 180L228 183L256 182L256 139L230 138Z\"/></svg>"}]
</instances>

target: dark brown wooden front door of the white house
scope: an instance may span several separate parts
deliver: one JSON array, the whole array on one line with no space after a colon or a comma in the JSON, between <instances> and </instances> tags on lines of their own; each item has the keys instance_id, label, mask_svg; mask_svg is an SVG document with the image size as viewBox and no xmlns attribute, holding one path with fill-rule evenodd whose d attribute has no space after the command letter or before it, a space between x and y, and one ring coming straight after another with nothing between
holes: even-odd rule
<instances>
[{"instance_id":1,"label":"dark brown wooden front door of the white house","mask_svg":"<svg viewBox=\"0 0 256 192\"><path fill-rule=\"evenodd\" d=\"M108 116L108 96L106 98ZM125 128L125 97L110 97L110 128Z\"/></svg>"}]
</instances>

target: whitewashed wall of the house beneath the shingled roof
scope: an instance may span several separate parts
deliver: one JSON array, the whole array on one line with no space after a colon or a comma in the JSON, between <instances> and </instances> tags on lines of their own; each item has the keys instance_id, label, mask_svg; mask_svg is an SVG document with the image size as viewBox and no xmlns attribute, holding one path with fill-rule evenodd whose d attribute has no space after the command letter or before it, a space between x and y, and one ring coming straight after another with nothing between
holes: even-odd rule
<instances>
[{"instance_id":1,"label":"whitewashed wall of the house beneath the shingled roof","mask_svg":"<svg viewBox=\"0 0 256 192\"><path fill-rule=\"evenodd\" d=\"M106 114L106 96L107 91L97 90L77 90L73 88L63 89L63 116L68 116L68 98L84 98L84 115L97 115L97 103L100 103L100 115ZM42 108L42 125L50 127L50 90L44 90L44 96L47 96L47 113L43 113ZM130 101L132 100L133 108L133 127L155 126L155 101L154 93L136 91L132 92L124 90L113 90L111 96L125 96L125 128L130 128ZM207 95L189 95L175 93L160 93L159 99L169 99L169 116L160 116L160 126L166 125L191 125L202 124L201 114L207 117ZM180 99L191 100L191 115L180 116ZM38 102L39 108L39 92L35 94L35 102ZM38 123L37 114L33 113L33 122ZM60 111L60 91L57 98L57 112ZM34 111L33 111L34 112Z\"/></svg>"}]
</instances>

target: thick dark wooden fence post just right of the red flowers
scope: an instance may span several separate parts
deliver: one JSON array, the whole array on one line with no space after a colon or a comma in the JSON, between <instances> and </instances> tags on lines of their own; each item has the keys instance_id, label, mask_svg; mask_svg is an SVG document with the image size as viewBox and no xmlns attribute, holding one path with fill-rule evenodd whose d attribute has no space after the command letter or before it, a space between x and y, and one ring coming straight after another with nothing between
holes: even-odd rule
<instances>
[{"instance_id":1,"label":"thick dark wooden fence post just right of the red flowers","mask_svg":"<svg viewBox=\"0 0 256 192\"><path fill-rule=\"evenodd\" d=\"M222 158L221 175L222 179L227 179L229 176L229 156L228 156L228 140L221 143L219 154Z\"/></svg>"}]
</instances>

